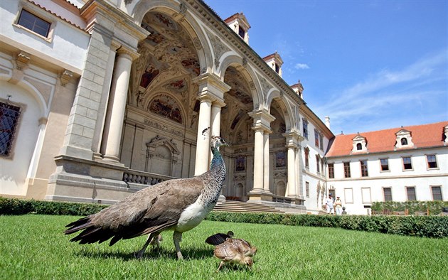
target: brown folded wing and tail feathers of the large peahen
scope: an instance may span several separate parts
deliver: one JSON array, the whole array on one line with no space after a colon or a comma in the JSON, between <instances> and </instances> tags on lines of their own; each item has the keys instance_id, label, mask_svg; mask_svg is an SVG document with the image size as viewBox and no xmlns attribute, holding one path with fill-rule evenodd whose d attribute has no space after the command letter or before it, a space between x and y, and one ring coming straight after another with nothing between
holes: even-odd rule
<instances>
[{"instance_id":1,"label":"brown folded wing and tail feathers of the large peahen","mask_svg":"<svg viewBox=\"0 0 448 280\"><path fill-rule=\"evenodd\" d=\"M194 203L203 189L199 177L176 179L149 186L124 200L73 222L66 234L84 230L73 241L102 242L110 237L111 245L150 232L161 232L176 225L181 212Z\"/></svg>"}]
</instances>

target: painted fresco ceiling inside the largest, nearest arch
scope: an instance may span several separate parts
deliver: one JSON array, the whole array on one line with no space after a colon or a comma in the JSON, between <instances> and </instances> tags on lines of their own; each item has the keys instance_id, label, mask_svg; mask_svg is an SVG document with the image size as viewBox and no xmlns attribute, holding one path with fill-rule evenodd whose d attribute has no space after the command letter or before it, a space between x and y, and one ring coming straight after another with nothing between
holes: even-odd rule
<instances>
[{"instance_id":1,"label":"painted fresco ceiling inside the largest, nearest arch","mask_svg":"<svg viewBox=\"0 0 448 280\"><path fill-rule=\"evenodd\" d=\"M196 102L197 85L191 80L201 73L197 50L185 28L166 14L147 13L142 27L150 35L140 43L140 57L132 65L129 104L183 123L177 110L192 112ZM166 97L155 102L161 92ZM173 107L169 95L181 104ZM193 126L195 114L186 117Z\"/></svg>"}]
</instances>

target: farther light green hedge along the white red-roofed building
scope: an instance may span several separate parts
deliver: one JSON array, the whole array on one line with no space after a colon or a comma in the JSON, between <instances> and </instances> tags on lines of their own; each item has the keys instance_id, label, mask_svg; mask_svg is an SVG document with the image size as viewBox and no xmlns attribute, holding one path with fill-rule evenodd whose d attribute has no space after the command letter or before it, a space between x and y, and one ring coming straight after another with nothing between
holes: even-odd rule
<instances>
[{"instance_id":1,"label":"farther light green hedge along the white red-roofed building","mask_svg":"<svg viewBox=\"0 0 448 280\"><path fill-rule=\"evenodd\" d=\"M427 210L429 210L430 215L439 215L439 213L442 212L442 208L448 208L448 201L385 201L372 203L373 213L392 213L407 210L409 214L412 215L415 212L427 212Z\"/></svg>"}]
</instances>

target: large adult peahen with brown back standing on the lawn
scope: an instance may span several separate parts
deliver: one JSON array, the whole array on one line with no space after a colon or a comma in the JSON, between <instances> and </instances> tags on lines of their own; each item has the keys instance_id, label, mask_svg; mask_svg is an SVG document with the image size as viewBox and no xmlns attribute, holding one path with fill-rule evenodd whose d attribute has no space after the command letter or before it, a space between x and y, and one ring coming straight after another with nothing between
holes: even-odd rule
<instances>
[{"instance_id":1,"label":"large adult peahen with brown back standing on the lawn","mask_svg":"<svg viewBox=\"0 0 448 280\"><path fill-rule=\"evenodd\" d=\"M213 159L206 173L164 181L139 190L117 204L68 224L65 234L82 230L70 241L87 244L112 238L110 246L120 239L149 235L143 248L137 252L137 258L140 258L160 232L174 230L177 258L183 259L179 246L182 233L202 222L215 207L223 188L225 164L219 152L220 146L228 144L219 136L211 136Z\"/></svg>"}]
</instances>

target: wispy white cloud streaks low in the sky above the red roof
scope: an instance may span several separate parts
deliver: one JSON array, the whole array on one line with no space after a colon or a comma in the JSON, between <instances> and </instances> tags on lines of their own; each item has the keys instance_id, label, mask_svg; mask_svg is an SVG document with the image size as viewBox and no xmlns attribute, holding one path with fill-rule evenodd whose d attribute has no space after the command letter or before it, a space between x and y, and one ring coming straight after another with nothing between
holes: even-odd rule
<instances>
[{"instance_id":1,"label":"wispy white cloud streaks low in the sky above the red roof","mask_svg":"<svg viewBox=\"0 0 448 280\"><path fill-rule=\"evenodd\" d=\"M447 56L428 56L402 70L380 70L346 90L337 92L316 113L330 116L334 132L371 131L396 125L428 123L446 109ZM442 85L442 86L441 86ZM432 108L432 109L430 109ZM426 120L427 119L427 120Z\"/></svg>"}]
</instances>

